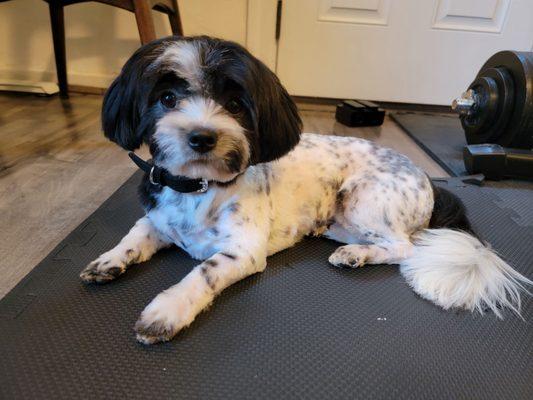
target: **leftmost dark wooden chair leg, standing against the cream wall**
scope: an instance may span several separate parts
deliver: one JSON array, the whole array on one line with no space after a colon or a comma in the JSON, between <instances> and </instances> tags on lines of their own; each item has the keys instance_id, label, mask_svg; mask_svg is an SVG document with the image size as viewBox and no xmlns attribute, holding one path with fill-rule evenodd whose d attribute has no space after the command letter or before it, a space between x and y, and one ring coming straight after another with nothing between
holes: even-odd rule
<instances>
[{"instance_id":1,"label":"leftmost dark wooden chair leg, standing against the cream wall","mask_svg":"<svg viewBox=\"0 0 533 400\"><path fill-rule=\"evenodd\" d=\"M63 98L68 98L67 51L65 48L65 18L63 15L63 6L51 1L49 3L49 9L59 95Z\"/></svg>"}]
</instances>

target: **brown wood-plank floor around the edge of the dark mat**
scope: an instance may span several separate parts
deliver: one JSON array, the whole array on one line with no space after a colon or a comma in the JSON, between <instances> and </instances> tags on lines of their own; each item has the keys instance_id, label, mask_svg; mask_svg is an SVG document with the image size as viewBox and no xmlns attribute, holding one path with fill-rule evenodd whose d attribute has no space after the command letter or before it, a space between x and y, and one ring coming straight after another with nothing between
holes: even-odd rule
<instances>
[{"instance_id":1,"label":"brown wood-plank floor around the edge of the dark mat","mask_svg":"<svg viewBox=\"0 0 533 400\"><path fill-rule=\"evenodd\" d=\"M101 134L101 102L0 94L0 298L136 170ZM446 176L390 119L353 129L335 122L334 106L299 108L306 132L371 139Z\"/></svg>"}]
</instances>

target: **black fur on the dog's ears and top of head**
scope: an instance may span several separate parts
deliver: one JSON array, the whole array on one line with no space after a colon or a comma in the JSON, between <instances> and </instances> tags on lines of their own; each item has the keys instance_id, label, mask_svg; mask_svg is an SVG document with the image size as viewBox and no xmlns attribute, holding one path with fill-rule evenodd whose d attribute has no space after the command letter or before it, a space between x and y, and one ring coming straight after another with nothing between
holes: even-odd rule
<instances>
[{"instance_id":1,"label":"black fur on the dog's ears and top of head","mask_svg":"<svg viewBox=\"0 0 533 400\"><path fill-rule=\"evenodd\" d=\"M166 57L167 50L183 42L192 45L188 48L194 49L199 60L192 71L191 65L180 64L179 57ZM169 76L170 81L175 78L174 83L169 83ZM228 93L238 96L243 112L235 119L246 130L249 165L275 160L299 141L302 123L279 79L242 46L204 36L168 37L137 50L105 95L105 135L127 150L143 142L153 147L157 121L165 114L157 91L169 84L181 85L179 99L209 97L223 107Z\"/></svg>"}]
</instances>

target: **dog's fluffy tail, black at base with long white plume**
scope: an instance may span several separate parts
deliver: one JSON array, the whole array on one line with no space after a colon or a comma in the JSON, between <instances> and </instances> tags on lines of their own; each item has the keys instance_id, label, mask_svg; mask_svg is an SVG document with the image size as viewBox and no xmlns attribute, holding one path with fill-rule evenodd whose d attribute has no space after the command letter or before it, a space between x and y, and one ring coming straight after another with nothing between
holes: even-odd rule
<instances>
[{"instance_id":1,"label":"dog's fluffy tail, black at base with long white plume","mask_svg":"<svg viewBox=\"0 0 533 400\"><path fill-rule=\"evenodd\" d=\"M444 309L490 309L502 318L507 307L520 315L520 292L533 282L481 241L459 198L442 188L433 191L429 229L414 235L413 253L400 264L409 285Z\"/></svg>"}]
</instances>

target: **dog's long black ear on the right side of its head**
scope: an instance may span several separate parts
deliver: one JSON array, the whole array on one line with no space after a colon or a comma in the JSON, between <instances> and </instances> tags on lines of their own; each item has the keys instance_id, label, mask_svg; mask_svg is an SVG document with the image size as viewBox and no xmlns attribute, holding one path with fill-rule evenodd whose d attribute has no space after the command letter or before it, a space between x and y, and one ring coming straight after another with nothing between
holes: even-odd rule
<instances>
[{"instance_id":1,"label":"dog's long black ear on the right side of its head","mask_svg":"<svg viewBox=\"0 0 533 400\"><path fill-rule=\"evenodd\" d=\"M255 60L254 125L258 136L259 162L287 154L296 146L302 132L298 109L278 77L262 62Z\"/></svg>"}]
</instances>

